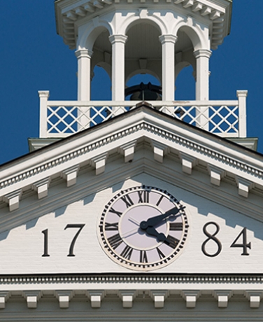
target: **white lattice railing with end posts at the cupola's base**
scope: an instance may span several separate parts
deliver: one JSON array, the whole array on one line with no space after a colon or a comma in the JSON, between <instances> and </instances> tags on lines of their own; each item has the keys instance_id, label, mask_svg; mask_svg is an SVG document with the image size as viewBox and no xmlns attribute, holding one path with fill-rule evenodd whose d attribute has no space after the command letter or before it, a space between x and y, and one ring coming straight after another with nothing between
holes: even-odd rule
<instances>
[{"instance_id":1,"label":"white lattice railing with end posts at the cupola's base","mask_svg":"<svg viewBox=\"0 0 263 322\"><path fill-rule=\"evenodd\" d=\"M134 109L136 101L48 101L49 92L40 91L40 134L68 137ZM149 101L155 109L220 137L246 137L246 96L238 90L233 101Z\"/></svg>"}]
</instances>

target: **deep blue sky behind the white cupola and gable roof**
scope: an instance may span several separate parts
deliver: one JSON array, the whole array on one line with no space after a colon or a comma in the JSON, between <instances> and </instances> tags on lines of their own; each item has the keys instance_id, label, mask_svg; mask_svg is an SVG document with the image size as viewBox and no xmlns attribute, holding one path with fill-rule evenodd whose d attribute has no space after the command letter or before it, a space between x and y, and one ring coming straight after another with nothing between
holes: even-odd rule
<instances>
[{"instance_id":1,"label":"deep blue sky behind the white cupola and gable roof","mask_svg":"<svg viewBox=\"0 0 263 322\"><path fill-rule=\"evenodd\" d=\"M263 153L263 0L233 2L231 33L211 57L210 98L236 99L236 90L248 90L248 137L259 138ZM57 35L54 0L0 0L0 9L2 164L28 153L27 138L38 137L38 90L50 90L50 100L77 99L77 62ZM190 68L180 74L176 99L194 99L191 74ZM108 77L97 68L92 99L110 95Z\"/></svg>"}]
</instances>

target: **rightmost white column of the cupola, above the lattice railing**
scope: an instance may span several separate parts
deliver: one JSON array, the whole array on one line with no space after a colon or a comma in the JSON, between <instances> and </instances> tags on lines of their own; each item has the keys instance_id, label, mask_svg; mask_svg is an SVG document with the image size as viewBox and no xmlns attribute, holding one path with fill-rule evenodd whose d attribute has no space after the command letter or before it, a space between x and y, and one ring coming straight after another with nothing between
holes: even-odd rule
<instances>
[{"instance_id":1,"label":"rightmost white column of the cupola, above the lattice railing","mask_svg":"<svg viewBox=\"0 0 263 322\"><path fill-rule=\"evenodd\" d=\"M208 101L209 99L209 58L211 54L211 50L207 49L194 51L194 57L197 59L195 94L197 101Z\"/></svg>"}]
</instances>

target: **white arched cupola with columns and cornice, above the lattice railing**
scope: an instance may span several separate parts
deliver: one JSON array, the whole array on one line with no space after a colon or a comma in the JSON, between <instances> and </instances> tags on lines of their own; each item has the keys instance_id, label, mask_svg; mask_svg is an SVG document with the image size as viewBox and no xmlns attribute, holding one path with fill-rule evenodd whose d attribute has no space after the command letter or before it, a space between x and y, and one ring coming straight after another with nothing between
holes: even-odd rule
<instances>
[{"instance_id":1,"label":"white arched cupola with columns and cornice, above the lattice railing","mask_svg":"<svg viewBox=\"0 0 263 322\"><path fill-rule=\"evenodd\" d=\"M178 73L192 65L196 99L209 99L209 58L229 34L232 0L57 0L57 32L78 59L78 100L90 100L94 66L111 78L112 100L125 100L132 76L161 83L175 99ZM158 90L153 88L153 91Z\"/></svg>"}]
</instances>

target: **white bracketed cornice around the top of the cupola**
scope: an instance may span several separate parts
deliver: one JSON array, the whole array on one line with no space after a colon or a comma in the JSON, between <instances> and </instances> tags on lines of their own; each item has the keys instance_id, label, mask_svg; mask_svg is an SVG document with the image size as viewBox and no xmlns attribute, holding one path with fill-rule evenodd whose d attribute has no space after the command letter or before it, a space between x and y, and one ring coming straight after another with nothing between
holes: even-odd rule
<instances>
[{"instance_id":1,"label":"white bracketed cornice around the top of the cupola","mask_svg":"<svg viewBox=\"0 0 263 322\"><path fill-rule=\"evenodd\" d=\"M90 15L104 13L105 10L115 6L118 8L140 8L141 3L145 6L144 0L135 0L122 3L120 0L78 0L78 1L56 1L56 22L57 33L62 36L64 43L69 48L76 48L76 22ZM232 15L232 3L229 1L213 1L213 0L157 0L148 3L148 8L156 8L159 5L169 7L169 10L183 10L188 15L200 16L206 18L211 27L211 48L216 49L223 41L223 38L229 34ZM102 11L101 11L102 10Z\"/></svg>"}]
</instances>

